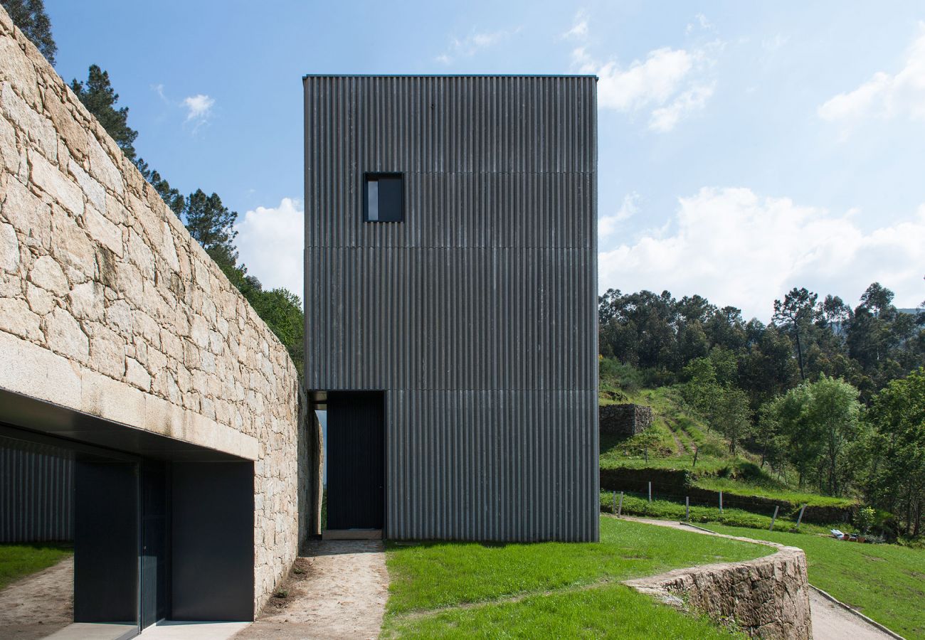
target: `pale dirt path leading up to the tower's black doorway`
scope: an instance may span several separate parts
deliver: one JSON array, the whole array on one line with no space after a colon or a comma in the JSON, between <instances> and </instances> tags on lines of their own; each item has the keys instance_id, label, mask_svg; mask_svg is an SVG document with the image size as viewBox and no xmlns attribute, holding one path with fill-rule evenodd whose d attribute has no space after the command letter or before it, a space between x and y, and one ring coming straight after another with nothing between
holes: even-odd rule
<instances>
[{"instance_id":1,"label":"pale dirt path leading up to the tower's black doorway","mask_svg":"<svg viewBox=\"0 0 925 640\"><path fill-rule=\"evenodd\" d=\"M273 597L249 638L376 638L388 598L386 554L380 541L312 541L296 560L285 598Z\"/></svg>"}]
</instances>

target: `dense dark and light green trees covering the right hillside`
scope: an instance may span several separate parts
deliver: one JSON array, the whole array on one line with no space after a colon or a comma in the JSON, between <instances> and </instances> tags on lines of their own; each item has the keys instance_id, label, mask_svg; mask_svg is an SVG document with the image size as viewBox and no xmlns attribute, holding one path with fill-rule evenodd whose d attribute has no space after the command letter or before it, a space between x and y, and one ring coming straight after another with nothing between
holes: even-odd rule
<instances>
[{"instance_id":1,"label":"dense dark and light green trees covering the right hillside","mask_svg":"<svg viewBox=\"0 0 925 640\"><path fill-rule=\"evenodd\" d=\"M857 496L921 535L925 507L925 302L899 310L873 283L853 308L792 289L771 323L669 291L598 299L602 371L677 386L693 412L800 486Z\"/></svg>"}]
</instances>

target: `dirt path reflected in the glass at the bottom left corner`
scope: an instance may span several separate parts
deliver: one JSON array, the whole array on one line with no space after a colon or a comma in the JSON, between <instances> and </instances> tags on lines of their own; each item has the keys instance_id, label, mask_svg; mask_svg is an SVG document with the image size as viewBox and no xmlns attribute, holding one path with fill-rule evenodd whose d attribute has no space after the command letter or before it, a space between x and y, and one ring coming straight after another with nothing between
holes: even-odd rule
<instances>
[{"instance_id":1,"label":"dirt path reflected in the glass at the bottom left corner","mask_svg":"<svg viewBox=\"0 0 925 640\"><path fill-rule=\"evenodd\" d=\"M0 637L43 638L74 618L74 557L0 591Z\"/></svg>"}]
</instances>

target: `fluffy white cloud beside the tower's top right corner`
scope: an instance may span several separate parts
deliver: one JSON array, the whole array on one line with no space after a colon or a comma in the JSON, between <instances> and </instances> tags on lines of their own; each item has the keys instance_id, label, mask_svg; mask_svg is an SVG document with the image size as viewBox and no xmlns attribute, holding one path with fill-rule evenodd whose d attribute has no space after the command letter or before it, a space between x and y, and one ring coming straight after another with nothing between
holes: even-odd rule
<instances>
[{"instance_id":1,"label":"fluffy white cloud beside the tower's top right corner","mask_svg":"<svg viewBox=\"0 0 925 640\"><path fill-rule=\"evenodd\" d=\"M712 64L708 48L650 51L645 60L629 66L601 63L584 47L572 52L573 68L598 76L598 107L623 112L651 109L649 129L670 131L682 119L702 110L713 94L714 83L705 79Z\"/></svg>"}]
</instances>

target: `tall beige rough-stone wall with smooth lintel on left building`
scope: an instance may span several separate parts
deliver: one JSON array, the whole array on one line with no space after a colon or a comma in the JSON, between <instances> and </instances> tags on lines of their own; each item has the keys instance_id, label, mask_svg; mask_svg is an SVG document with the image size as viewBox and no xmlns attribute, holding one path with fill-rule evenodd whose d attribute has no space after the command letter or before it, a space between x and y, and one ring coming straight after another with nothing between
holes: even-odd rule
<instances>
[{"instance_id":1,"label":"tall beige rough-stone wall with smooth lintel on left building","mask_svg":"<svg viewBox=\"0 0 925 640\"><path fill-rule=\"evenodd\" d=\"M254 462L254 610L299 543L286 349L0 10L0 387Z\"/></svg>"}]
</instances>

